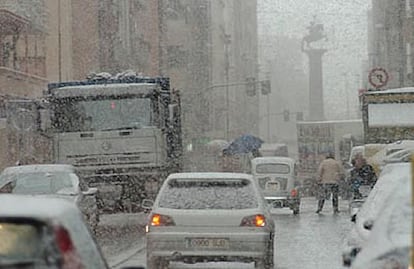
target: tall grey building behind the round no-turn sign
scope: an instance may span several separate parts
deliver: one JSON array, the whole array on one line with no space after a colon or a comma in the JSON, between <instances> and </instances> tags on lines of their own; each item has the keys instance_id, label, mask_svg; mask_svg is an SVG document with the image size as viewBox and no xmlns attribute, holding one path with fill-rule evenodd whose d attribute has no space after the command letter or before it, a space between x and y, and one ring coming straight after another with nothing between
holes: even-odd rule
<instances>
[{"instance_id":1,"label":"tall grey building behind the round no-turn sign","mask_svg":"<svg viewBox=\"0 0 414 269\"><path fill-rule=\"evenodd\" d=\"M387 71L386 88L413 85L413 12L412 0L372 1L368 66L369 69L380 67ZM372 88L368 83L367 87Z\"/></svg>"}]
</instances>

